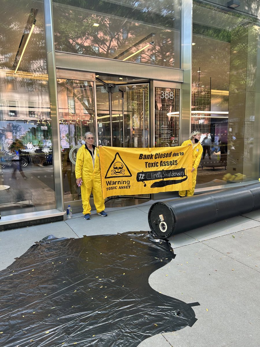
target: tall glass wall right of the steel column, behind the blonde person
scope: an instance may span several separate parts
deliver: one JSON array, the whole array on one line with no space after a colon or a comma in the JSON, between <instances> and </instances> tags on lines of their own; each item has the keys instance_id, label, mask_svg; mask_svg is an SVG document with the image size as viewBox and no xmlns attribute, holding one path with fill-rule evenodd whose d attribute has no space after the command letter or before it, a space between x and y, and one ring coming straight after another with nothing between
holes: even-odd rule
<instances>
[{"instance_id":1,"label":"tall glass wall right of the steel column, behind the blonde person","mask_svg":"<svg viewBox=\"0 0 260 347\"><path fill-rule=\"evenodd\" d=\"M211 138L205 186L259 177L259 34L255 18L193 1L191 130Z\"/></svg>"}]
</instances>

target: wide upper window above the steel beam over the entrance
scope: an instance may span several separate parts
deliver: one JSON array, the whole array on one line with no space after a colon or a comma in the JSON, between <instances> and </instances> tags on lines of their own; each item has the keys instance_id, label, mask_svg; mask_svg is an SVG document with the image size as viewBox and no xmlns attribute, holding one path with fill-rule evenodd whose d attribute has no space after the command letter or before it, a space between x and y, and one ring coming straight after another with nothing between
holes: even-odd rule
<instances>
[{"instance_id":1,"label":"wide upper window above the steel beam over the entrance","mask_svg":"<svg viewBox=\"0 0 260 347\"><path fill-rule=\"evenodd\" d=\"M180 68L180 0L53 5L58 51Z\"/></svg>"}]
</instances>

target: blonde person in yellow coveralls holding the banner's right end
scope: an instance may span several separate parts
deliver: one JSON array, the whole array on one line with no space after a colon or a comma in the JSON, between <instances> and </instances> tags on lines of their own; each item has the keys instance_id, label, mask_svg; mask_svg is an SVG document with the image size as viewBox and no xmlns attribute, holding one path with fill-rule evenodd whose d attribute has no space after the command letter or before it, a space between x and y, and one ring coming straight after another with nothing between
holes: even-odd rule
<instances>
[{"instance_id":1,"label":"blonde person in yellow coveralls holding the banner's right end","mask_svg":"<svg viewBox=\"0 0 260 347\"><path fill-rule=\"evenodd\" d=\"M185 196L186 192L187 196L192 196L194 194L197 179L197 168L199 166L201 155L203 152L203 147L200 144L200 136L201 132L194 131L190 134L189 139L187 141L184 141L182 144L182 146L192 145L192 188L188 191L179 191L180 197Z\"/></svg>"}]
</instances>

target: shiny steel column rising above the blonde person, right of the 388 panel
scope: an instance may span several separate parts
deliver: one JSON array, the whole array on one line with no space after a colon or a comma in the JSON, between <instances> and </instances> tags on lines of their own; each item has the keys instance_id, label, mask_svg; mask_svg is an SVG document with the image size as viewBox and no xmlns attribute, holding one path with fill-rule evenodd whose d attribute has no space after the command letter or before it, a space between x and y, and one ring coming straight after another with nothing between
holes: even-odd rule
<instances>
[{"instance_id":1,"label":"shiny steel column rising above the blonde person, right of the 388 panel","mask_svg":"<svg viewBox=\"0 0 260 347\"><path fill-rule=\"evenodd\" d=\"M190 135L192 73L192 0L181 2L181 68L183 84L180 95L179 145Z\"/></svg>"}]
</instances>

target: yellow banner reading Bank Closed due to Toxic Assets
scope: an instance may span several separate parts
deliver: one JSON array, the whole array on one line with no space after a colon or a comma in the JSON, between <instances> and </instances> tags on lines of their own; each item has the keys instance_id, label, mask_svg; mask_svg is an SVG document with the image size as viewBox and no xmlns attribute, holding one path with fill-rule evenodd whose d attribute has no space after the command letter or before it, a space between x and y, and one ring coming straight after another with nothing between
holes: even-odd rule
<instances>
[{"instance_id":1,"label":"yellow banner reading Bank Closed due to Toxic Assets","mask_svg":"<svg viewBox=\"0 0 260 347\"><path fill-rule=\"evenodd\" d=\"M99 147L103 197L192 188L192 146Z\"/></svg>"}]
</instances>

